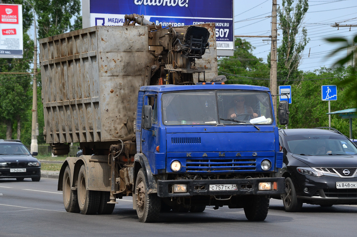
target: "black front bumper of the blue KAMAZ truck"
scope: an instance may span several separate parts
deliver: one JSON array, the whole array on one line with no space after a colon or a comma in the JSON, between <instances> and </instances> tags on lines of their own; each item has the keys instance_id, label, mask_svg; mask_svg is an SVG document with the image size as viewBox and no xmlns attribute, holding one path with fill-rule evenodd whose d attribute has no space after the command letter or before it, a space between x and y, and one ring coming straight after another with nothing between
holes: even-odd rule
<instances>
[{"instance_id":1,"label":"black front bumper of the blue KAMAZ truck","mask_svg":"<svg viewBox=\"0 0 357 237\"><path fill-rule=\"evenodd\" d=\"M277 182L277 190L258 190L260 182ZM174 184L186 184L186 193L172 193ZM237 190L210 191L210 185L237 184ZM274 195L285 192L285 178L247 178L229 180L158 180L157 196L159 197L190 197L215 195Z\"/></svg>"}]
</instances>

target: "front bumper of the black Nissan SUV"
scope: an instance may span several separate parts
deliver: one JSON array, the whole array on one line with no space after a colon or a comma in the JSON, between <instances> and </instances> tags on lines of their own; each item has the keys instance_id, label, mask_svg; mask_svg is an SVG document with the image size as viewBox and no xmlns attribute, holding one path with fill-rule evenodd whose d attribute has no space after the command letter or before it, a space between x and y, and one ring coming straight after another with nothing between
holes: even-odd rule
<instances>
[{"instance_id":1,"label":"front bumper of the black Nissan SUV","mask_svg":"<svg viewBox=\"0 0 357 237\"><path fill-rule=\"evenodd\" d=\"M357 204L357 188L338 189L336 182L357 182L357 177L315 177L299 174L295 179L294 186L297 197L307 203ZM308 191L304 192L304 188L308 188Z\"/></svg>"}]
</instances>

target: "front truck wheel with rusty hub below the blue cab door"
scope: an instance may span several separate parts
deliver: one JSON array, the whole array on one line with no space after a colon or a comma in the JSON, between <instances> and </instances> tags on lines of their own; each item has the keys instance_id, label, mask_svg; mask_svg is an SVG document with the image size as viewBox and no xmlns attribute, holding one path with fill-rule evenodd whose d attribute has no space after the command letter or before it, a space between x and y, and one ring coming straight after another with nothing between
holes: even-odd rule
<instances>
[{"instance_id":1,"label":"front truck wheel with rusty hub below the blue cab door","mask_svg":"<svg viewBox=\"0 0 357 237\"><path fill-rule=\"evenodd\" d=\"M156 193L147 193L146 177L142 168L135 182L136 212L140 222L155 222L160 215L161 198Z\"/></svg>"}]
</instances>

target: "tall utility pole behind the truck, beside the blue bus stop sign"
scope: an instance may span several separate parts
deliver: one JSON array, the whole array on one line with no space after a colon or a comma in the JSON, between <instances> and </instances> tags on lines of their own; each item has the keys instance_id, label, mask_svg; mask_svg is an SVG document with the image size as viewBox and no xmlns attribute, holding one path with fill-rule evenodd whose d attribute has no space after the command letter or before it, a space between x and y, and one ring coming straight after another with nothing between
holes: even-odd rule
<instances>
[{"instance_id":1,"label":"tall utility pole behind the truck, beside the blue bus stop sign","mask_svg":"<svg viewBox=\"0 0 357 237\"><path fill-rule=\"evenodd\" d=\"M271 11L272 22L271 22L271 49L270 49L270 91L272 95L277 95L277 28L276 28L276 0L273 0L273 9ZM273 108L275 113L275 118L277 118L277 99L273 99Z\"/></svg>"}]
</instances>

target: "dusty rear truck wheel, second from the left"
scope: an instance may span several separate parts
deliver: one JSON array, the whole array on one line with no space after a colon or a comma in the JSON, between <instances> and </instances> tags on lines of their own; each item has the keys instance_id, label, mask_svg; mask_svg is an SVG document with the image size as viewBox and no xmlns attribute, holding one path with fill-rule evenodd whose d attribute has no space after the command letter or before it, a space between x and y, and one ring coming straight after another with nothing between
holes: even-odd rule
<instances>
[{"instance_id":1,"label":"dusty rear truck wheel, second from the left","mask_svg":"<svg viewBox=\"0 0 357 237\"><path fill-rule=\"evenodd\" d=\"M99 208L100 192L94 190L86 190L86 180L86 167L82 165L78 174L78 205L82 214L93 215L97 213Z\"/></svg>"}]
</instances>

